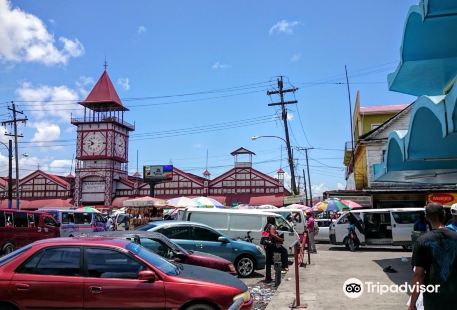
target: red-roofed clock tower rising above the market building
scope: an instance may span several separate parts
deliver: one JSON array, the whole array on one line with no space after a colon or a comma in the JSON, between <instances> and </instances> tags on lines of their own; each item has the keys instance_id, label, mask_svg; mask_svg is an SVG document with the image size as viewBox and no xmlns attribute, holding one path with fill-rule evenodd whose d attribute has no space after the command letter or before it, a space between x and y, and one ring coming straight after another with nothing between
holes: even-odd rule
<instances>
[{"instance_id":1,"label":"red-roofed clock tower rising above the market building","mask_svg":"<svg viewBox=\"0 0 457 310\"><path fill-rule=\"evenodd\" d=\"M86 100L77 126L75 205L110 206L117 183L127 177L128 138L135 126L124 120L122 104L108 73L103 72Z\"/></svg>"}]
</instances>

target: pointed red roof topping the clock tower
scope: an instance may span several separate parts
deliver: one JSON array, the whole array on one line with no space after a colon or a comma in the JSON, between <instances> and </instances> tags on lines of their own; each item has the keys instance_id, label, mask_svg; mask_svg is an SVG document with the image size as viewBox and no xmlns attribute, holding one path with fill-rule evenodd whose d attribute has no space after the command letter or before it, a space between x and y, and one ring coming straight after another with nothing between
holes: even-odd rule
<instances>
[{"instance_id":1,"label":"pointed red roof topping the clock tower","mask_svg":"<svg viewBox=\"0 0 457 310\"><path fill-rule=\"evenodd\" d=\"M95 111L128 111L128 109L122 105L121 98L119 98L106 70L103 71L86 100L80 102L80 104Z\"/></svg>"}]
</instances>

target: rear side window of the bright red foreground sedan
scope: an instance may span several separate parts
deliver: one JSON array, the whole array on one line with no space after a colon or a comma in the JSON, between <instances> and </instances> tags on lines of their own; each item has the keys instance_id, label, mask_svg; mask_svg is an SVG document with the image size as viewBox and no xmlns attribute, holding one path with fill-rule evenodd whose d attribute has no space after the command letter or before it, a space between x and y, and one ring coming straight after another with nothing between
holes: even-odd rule
<instances>
[{"instance_id":1,"label":"rear side window of the bright red foreground sedan","mask_svg":"<svg viewBox=\"0 0 457 310\"><path fill-rule=\"evenodd\" d=\"M80 276L81 249L58 247L42 250L30 257L18 273L52 276Z\"/></svg>"}]
</instances>

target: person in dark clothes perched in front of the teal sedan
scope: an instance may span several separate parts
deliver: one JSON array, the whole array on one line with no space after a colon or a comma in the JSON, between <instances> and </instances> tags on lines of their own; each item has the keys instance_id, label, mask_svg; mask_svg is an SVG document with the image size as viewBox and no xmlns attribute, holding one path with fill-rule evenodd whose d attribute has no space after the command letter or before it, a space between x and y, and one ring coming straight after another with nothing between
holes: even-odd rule
<instances>
[{"instance_id":1,"label":"person in dark clothes perched in front of the teal sedan","mask_svg":"<svg viewBox=\"0 0 457 310\"><path fill-rule=\"evenodd\" d=\"M265 264L265 283L273 281L271 277L271 266L273 265L274 253L281 254L281 267L284 272L288 270L289 262L287 259L287 249L282 245L284 238L276 230L276 221L272 216L267 217L267 224L263 228L261 243L266 252Z\"/></svg>"}]
</instances>

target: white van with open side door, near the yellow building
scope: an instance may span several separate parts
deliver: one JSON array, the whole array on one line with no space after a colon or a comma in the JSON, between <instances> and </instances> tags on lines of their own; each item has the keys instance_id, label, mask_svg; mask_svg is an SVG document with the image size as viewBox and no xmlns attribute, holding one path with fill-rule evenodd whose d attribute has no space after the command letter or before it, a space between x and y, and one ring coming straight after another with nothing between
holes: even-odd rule
<instances>
[{"instance_id":1,"label":"white van with open side door, near the yellow building","mask_svg":"<svg viewBox=\"0 0 457 310\"><path fill-rule=\"evenodd\" d=\"M330 225L330 242L346 244L349 217L355 217L360 224L355 231L362 245L399 245L411 247L411 233L414 223L424 208L353 210L342 214Z\"/></svg>"}]
</instances>

